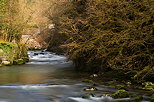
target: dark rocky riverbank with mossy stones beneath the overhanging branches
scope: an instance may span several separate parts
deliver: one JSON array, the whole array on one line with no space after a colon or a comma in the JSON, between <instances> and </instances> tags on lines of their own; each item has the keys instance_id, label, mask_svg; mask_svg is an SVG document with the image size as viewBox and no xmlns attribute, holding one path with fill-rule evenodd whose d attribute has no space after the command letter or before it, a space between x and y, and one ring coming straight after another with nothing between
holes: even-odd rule
<instances>
[{"instance_id":1,"label":"dark rocky riverbank with mossy stones beneath the overhanging branches","mask_svg":"<svg viewBox=\"0 0 154 102\"><path fill-rule=\"evenodd\" d=\"M141 100L151 100L154 102L154 83L143 81L137 83L134 80L128 79L124 73L116 71L108 71L99 74L88 74L87 79L83 80L92 87L87 87L85 90L95 91L98 86L104 85L108 88L115 89L116 91L112 94L104 94L107 96L112 96L115 99L118 98L132 98L129 102L140 102ZM146 97L145 97L146 96ZM127 100L122 100L121 102ZM119 102L119 101L118 101Z\"/></svg>"}]
</instances>

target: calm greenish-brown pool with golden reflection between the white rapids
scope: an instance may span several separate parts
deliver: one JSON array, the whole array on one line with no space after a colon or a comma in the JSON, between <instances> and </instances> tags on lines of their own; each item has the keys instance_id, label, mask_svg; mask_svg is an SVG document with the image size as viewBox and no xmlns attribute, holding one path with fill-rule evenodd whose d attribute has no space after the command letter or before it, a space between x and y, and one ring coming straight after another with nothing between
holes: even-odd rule
<instances>
[{"instance_id":1,"label":"calm greenish-brown pool with golden reflection between the white rapids","mask_svg":"<svg viewBox=\"0 0 154 102\"><path fill-rule=\"evenodd\" d=\"M71 74L69 74L71 73ZM49 65L22 65L3 67L0 69L0 84L40 84L42 80L68 77L73 74L73 69L68 67L53 67ZM64 77L63 77L64 76Z\"/></svg>"}]
</instances>

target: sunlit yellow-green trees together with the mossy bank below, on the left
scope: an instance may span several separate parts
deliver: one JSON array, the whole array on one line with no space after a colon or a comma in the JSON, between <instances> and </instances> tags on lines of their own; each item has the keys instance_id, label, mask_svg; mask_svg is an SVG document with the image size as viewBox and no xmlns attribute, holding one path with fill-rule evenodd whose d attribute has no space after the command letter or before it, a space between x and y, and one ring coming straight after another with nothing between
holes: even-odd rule
<instances>
[{"instance_id":1,"label":"sunlit yellow-green trees together with the mossy bank below, on the left","mask_svg":"<svg viewBox=\"0 0 154 102\"><path fill-rule=\"evenodd\" d=\"M23 64L28 60L27 48L20 43L25 22L18 0L0 0L0 66Z\"/></svg>"}]
</instances>

